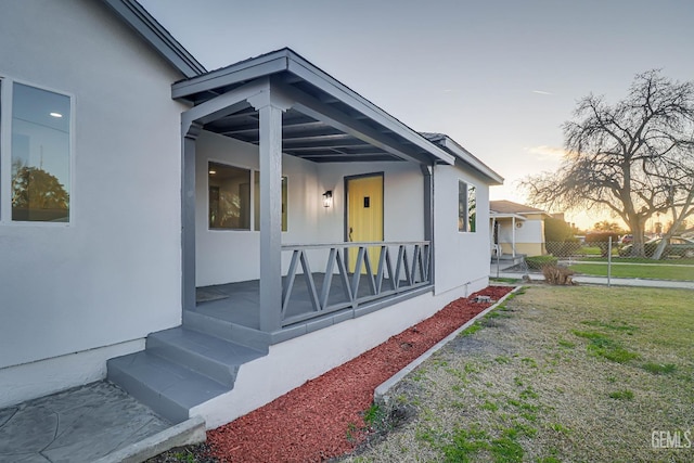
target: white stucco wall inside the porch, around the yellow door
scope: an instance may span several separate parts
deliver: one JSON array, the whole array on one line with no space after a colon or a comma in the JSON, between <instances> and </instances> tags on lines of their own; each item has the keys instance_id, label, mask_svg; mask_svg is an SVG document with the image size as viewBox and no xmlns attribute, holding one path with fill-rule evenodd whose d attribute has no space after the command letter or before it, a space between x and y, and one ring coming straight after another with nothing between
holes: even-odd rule
<instances>
[{"instance_id":1,"label":"white stucco wall inside the porch, around the yellow door","mask_svg":"<svg viewBox=\"0 0 694 463\"><path fill-rule=\"evenodd\" d=\"M257 279L260 273L257 231L209 230L208 163L258 168L258 147L204 131L196 145L196 284L198 286ZM287 177L287 231L283 244L338 243L345 230L345 177L384 172L384 237L386 241L424 239L424 183L420 168L409 163L316 164L283 155ZM323 207L322 194L333 191L333 206ZM327 253L309 250L313 271L324 269ZM291 253L282 255L286 271Z\"/></svg>"}]
</instances>

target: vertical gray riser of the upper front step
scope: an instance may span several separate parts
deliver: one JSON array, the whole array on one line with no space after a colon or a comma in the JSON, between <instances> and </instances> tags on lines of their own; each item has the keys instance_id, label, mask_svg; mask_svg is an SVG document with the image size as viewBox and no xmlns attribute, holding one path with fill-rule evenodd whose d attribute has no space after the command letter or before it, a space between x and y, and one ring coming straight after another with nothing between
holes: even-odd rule
<instances>
[{"instance_id":1,"label":"vertical gray riser of the upper front step","mask_svg":"<svg viewBox=\"0 0 694 463\"><path fill-rule=\"evenodd\" d=\"M237 365L227 365L215 361L197 352L188 350L177 344L159 339L156 333L150 334L146 340L146 350L170 362L181 364L202 375L217 381L229 388L233 388Z\"/></svg>"}]
</instances>

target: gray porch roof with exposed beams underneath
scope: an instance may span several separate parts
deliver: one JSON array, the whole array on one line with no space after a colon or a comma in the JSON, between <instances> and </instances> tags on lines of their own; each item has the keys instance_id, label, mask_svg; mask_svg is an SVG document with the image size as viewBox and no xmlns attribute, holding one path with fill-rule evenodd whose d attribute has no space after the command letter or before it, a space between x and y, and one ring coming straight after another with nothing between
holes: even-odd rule
<instances>
[{"instance_id":1,"label":"gray porch roof with exposed beams underneath","mask_svg":"<svg viewBox=\"0 0 694 463\"><path fill-rule=\"evenodd\" d=\"M283 116L283 152L318 163L410 160L455 163L455 155L432 143L385 111L290 49L253 57L174 83L174 99L202 105L256 82L268 82L291 105ZM259 142L258 113L247 105L220 115L205 130Z\"/></svg>"}]
</instances>

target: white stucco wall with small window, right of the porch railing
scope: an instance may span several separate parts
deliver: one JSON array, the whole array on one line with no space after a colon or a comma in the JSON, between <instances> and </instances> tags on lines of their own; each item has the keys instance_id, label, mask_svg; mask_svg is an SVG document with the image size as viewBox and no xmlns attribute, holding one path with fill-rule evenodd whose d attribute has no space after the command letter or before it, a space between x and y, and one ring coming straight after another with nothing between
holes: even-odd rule
<instances>
[{"instance_id":1,"label":"white stucco wall with small window, right of the porch railing","mask_svg":"<svg viewBox=\"0 0 694 463\"><path fill-rule=\"evenodd\" d=\"M458 231L459 180L476 187L477 230ZM489 187L458 166L434 170L436 294L461 286L470 293L489 281Z\"/></svg>"}]
</instances>

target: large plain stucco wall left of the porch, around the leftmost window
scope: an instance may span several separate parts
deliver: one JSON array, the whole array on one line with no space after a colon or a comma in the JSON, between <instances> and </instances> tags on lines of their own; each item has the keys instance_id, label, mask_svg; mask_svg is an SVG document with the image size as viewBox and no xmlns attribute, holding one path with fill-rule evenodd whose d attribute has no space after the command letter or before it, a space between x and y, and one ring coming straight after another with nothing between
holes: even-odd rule
<instances>
[{"instance_id":1,"label":"large plain stucco wall left of the porch, around the leftmost window","mask_svg":"<svg viewBox=\"0 0 694 463\"><path fill-rule=\"evenodd\" d=\"M0 76L74 98L69 224L11 222L2 133L0 369L177 325L181 76L100 2L3 2L0 35Z\"/></svg>"}]
</instances>

